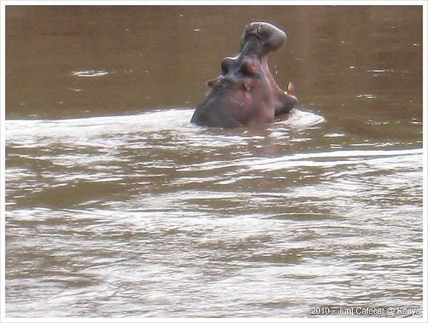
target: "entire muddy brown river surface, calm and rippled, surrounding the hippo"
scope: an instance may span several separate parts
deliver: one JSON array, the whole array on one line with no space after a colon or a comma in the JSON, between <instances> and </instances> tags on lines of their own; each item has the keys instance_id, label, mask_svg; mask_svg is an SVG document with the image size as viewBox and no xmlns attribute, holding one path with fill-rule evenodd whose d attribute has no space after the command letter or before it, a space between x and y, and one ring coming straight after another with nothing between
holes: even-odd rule
<instances>
[{"instance_id":1,"label":"entire muddy brown river surface, calm and rippled, surrounding the hippo","mask_svg":"<svg viewBox=\"0 0 428 323\"><path fill-rule=\"evenodd\" d=\"M297 109L190 124L251 21ZM9 6L5 130L6 317L422 317L422 7Z\"/></svg>"}]
</instances>

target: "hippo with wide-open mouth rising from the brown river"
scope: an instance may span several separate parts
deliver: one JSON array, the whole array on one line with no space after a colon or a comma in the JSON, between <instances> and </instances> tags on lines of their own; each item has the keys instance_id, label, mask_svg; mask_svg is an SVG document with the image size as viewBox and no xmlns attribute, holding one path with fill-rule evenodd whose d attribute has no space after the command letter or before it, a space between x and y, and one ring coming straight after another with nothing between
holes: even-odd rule
<instances>
[{"instance_id":1,"label":"hippo with wide-open mouth rising from the brown river","mask_svg":"<svg viewBox=\"0 0 428 323\"><path fill-rule=\"evenodd\" d=\"M267 22L245 27L240 51L221 63L221 75L208 81L210 90L190 120L196 125L236 128L270 123L289 113L297 103L288 83L282 91L267 66L267 55L287 39L284 31Z\"/></svg>"}]
</instances>

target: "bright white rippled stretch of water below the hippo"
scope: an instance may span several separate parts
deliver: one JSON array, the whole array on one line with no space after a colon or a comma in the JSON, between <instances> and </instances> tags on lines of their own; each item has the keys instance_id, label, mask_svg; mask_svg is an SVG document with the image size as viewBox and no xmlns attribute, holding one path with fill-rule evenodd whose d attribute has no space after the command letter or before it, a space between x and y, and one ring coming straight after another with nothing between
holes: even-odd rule
<instances>
[{"instance_id":1,"label":"bright white rippled stretch of water below the hippo","mask_svg":"<svg viewBox=\"0 0 428 323\"><path fill-rule=\"evenodd\" d=\"M9 313L422 304L421 148L332 149L347 137L312 117L219 130L191 112L6 122Z\"/></svg>"}]
</instances>

